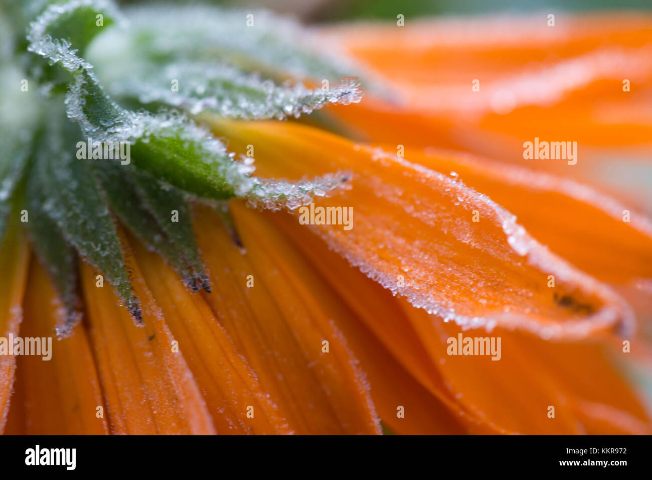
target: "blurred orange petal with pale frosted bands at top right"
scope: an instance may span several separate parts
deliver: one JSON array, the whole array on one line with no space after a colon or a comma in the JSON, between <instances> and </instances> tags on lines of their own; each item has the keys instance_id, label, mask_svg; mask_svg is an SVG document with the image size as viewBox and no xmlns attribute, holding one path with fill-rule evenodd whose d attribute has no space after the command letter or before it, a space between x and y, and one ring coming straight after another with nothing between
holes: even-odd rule
<instances>
[{"instance_id":1,"label":"blurred orange petal with pale frosted bands at top right","mask_svg":"<svg viewBox=\"0 0 652 480\"><path fill-rule=\"evenodd\" d=\"M563 126L571 128L575 140L604 142L600 133L609 122L595 122L602 127L596 132L586 127L587 121L577 125L569 116L551 122L550 117L542 120L541 115L523 112L529 121L518 123L514 116L502 114L522 106L546 108L580 90L585 95L568 106L585 110L593 104L587 99L623 98L623 78L636 85L627 95L637 95L652 80L652 17L559 14L557 23L548 27L541 15L413 21L409 28L398 29L389 24L340 27L326 37L389 80L413 110L469 119L498 112L487 121L502 122L504 127L507 120L522 129L533 121L540 132L538 127L568 131L559 125L568 119ZM398 57L400 63L392 61ZM479 88L474 90L475 80ZM589 90L594 90L593 95ZM631 107L629 112L636 115L634 104ZM647 125L648 133L651 126ZM576 138L578 129L586 138ZM496 131L505 129L496 127Z\"/></svg>"}]
</instances>

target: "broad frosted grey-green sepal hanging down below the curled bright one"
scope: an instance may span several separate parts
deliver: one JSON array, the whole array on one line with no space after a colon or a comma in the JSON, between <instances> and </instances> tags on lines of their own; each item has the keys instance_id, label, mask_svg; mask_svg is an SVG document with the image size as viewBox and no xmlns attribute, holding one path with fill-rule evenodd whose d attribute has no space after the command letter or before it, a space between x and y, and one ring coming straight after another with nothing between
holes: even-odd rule
<instances>
[{"instance_id":1,"label":"broad frosted grey-green sepal hanging down below the curled bright one","mask_svg":"<svg viewBox=\"0 0 652 480\"><path fill-rule=\"evenodd\" d=\"M91 164L76 158L79 129L61 121L61 114L61 108L50 105L34 157L32 176L42 188L40 208L65 240L106 276L134 319L140 321L140 304L132 291L113 218Z\"/></svg>"}]
</instances>

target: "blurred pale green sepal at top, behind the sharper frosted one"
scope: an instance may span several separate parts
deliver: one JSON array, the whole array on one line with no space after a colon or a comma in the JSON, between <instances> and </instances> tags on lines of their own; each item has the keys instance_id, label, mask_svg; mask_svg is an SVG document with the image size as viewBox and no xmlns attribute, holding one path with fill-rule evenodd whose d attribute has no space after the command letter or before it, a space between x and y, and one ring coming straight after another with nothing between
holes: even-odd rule
<instances>
[{"instance_id":1,"label":"blurred pale green sepal at top, behind the sharper frosted one","mask_svg":"<svg viewBox=\"0 0 652 480\"><path fill-rule=\"evenodd\" d=\"M327 50L310 30L263 10L166 4L130 7L125 13L129 28L107 29L89 49L102 73L121 69L125 62L226 63L278 81L295 78L321 85L364 71L332 46Z\"/></svg>"}]
</instances>

